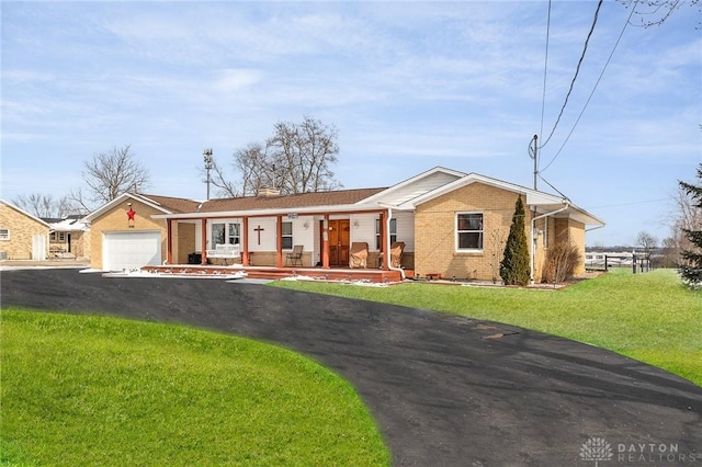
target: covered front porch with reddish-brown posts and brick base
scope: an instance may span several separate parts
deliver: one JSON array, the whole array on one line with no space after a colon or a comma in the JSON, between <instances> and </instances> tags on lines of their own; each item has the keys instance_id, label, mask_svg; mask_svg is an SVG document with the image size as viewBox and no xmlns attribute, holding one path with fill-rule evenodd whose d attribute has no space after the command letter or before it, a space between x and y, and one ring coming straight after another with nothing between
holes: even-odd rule
<instances>
[{"instance_id":1,"label":"covered front porch with reddish-brown posts and brick base","mask_svg":"<svg viewBox=\"0 0 702 467\"><path fill-rule=\"evenodd\" d=\"M234 265L257 277L298 274L395 282L405 276L400 267L393 266L389 254L384 254L396 239L396 220L390 223L387 208L346 205L329 210L317 206L285 213L265 209L155 217L166 220L166 262L150 270L223 274ZM358 269L350 267L356 243L367 250L365 264ZM302 254L291 262L297 249ZM214 253L222 250L230 254Z\"/></svg>"}]
</instances>

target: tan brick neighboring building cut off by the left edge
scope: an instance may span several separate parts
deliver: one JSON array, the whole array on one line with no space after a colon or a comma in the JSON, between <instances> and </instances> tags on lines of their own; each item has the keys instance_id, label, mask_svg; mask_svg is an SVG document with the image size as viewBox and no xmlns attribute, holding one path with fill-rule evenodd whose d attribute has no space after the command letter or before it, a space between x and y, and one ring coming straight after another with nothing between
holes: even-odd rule
<instances>
[{"instance_id":1,"label":"tan brick neighboring building cut off by the left edge","mask_svg":"<svg viewBox=\"0 0 702 467\"><path fill-rule=\"evenodd\" d=\"M0 259L45 260L49 230L44 220L0 200Z\"/></svg>"}]
</instances>

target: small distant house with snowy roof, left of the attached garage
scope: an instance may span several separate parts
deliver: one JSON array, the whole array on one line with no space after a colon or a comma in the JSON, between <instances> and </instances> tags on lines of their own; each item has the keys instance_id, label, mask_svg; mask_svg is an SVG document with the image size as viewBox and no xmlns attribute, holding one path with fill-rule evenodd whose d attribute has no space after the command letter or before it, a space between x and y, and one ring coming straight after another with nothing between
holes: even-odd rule
<instances>
[{"instance_id":1,"label":"small distant house with snowy roof, left of the attached garage","mask_svg":"<svg viewBox=\"0 0 702 467\"><path fill-rule=\"evenodd\" d=\"M90 226L84 216L42 218L50 227L48 253L55 258L90 258Z\"/></svg>"}]
</instances>

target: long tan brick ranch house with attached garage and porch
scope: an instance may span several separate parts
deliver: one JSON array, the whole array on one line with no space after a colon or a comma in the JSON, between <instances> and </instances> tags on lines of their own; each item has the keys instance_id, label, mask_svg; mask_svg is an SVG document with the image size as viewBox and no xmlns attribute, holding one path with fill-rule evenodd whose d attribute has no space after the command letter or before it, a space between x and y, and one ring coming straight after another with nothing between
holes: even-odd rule
<instances>
[{"instance_id":1,"label":"long tan brick ranch house with attached garage and porch","mask_svg":"<svg viewBox=\"0 0 702 467\"><path fill-rule=\"evenodd\" d=\"M382 252L401 241L403 269L421 276L489 281L499 271L518 196L528 209L534 281L541 278L551 244L571 242L585 255L586 226L604 225L559 196L434 168L386 189L264 191L202 203L127 193L87 217L91 263L99 270L207 264L207 250L234 243L244 265L283 267L285 254L303 246L305 267L346 267L351 243L365 242L367 266L389 270Z\"/></svg>"}]
</instances>

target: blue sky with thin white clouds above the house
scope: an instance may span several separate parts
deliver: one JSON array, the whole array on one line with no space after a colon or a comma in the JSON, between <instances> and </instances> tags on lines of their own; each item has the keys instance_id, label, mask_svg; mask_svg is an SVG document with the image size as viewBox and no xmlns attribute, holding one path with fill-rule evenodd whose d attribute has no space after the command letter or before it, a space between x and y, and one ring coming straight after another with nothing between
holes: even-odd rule
<instances>
[{"instance_id":1,"label":"blue sky with thin white clouds above the house","mask_svg":"<svg viewBox=\"0 0 702 467\"><path fill-rule=\"evenodd\" d=\"M604 1L558 119L597 5L2 1L0 196L61 197L131 145L147 193L204 200L204 148L228 168L312 116L346 189L437 166L533 187L539 135L537 189L607 223L588 246L663 240L702 162L700 7L641 27L656 16Z\"/></svg>"}]
</instances>

